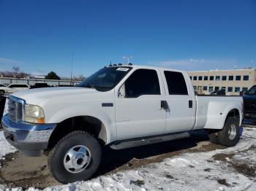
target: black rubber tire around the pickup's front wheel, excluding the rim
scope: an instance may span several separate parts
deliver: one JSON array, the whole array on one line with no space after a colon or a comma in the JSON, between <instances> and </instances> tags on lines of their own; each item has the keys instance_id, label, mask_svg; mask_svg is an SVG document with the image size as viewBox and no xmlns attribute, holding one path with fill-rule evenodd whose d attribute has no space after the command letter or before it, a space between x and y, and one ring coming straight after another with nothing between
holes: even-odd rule
<instances>
[{"instance_id":1,"label":"black rubber tire around the pickup's front wheel, excluding the rim","mask_svg":"<svg viewBox=\"0 0 256 191\"><path fill-rule=\"evenodd\" d=\"M89 165L80 173L72 174L64 167L64 156L69 149L76 145L83 145L91 152ZM48 168L50 174L63 184L90 179L97 171L102 157L99 142L91 134L82 130L75 130L64 136L48 155Z\"/></svg>"}]
</instances>

